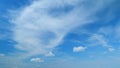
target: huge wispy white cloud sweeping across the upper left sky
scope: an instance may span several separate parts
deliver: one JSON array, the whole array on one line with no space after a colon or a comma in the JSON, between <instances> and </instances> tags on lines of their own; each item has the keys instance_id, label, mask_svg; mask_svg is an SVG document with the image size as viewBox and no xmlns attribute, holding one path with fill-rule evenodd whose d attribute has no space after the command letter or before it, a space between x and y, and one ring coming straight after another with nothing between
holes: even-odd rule
<instances>
[{"instance_id":1,"label":"huge wispy white cloud sweeping across the upper left sky","mask_svg":"<svg viewBox=\"0 0 120 68\"><path fill-rule=\"evenodd\" d=\"M37 0L17 10L12 20L13 39L18 43L15 47L27 51L29 56L49 54L71 29L93 22L94 13L109 1L87 3L83 0Z\"/></svg>"}]
</instances>

